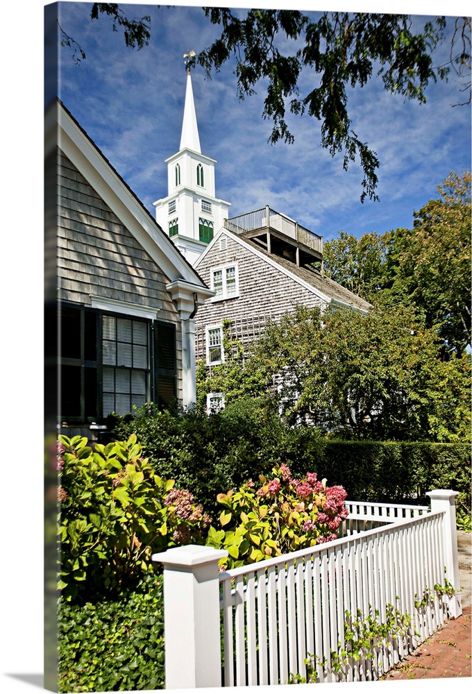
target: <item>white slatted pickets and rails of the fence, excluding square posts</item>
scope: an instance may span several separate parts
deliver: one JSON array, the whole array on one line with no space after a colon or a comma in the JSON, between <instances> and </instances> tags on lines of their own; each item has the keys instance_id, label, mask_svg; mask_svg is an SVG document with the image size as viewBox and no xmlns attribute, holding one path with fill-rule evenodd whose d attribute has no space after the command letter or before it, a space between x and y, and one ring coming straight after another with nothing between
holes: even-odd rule
<instances>
[{"instance_id":1,"label":"white slatted pickets and rails of the fence, excluding square posts","mask_svg":"<svg viewBox=\"0 0 472 694\"><path fill-rule=\"evenodd\" d=\"M303 677L307 654L318 682L375 681L444 623L446 596L415 607L415 594L421 600L425 589L444 584L444 513L360 502L348 507L353 518L339 540L221 576L225 686ZM408 634L373 639L371 652L357 661L351 654L335 672L332 652L350 648L346 614L352 623L369 616L385 623L387 604L410 615Z\"/></svg>"}]
</instances>

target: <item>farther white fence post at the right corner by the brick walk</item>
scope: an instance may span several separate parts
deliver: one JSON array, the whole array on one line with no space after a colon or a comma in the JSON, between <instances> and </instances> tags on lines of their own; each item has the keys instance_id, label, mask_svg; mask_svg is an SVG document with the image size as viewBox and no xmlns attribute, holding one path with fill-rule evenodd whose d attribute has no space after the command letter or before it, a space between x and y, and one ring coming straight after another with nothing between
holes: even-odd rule
<instances>
[{"instance_id":1,"label":"farther white fence post at the right corner by the brick walk","mask_svg":"<svg viewBox=\"0 0 472 694\"><path fill-rule=\"evenodd\" d=\"M446 578L455 588L449 600L451 617L462 614L460 598L459 555L457 552L457 529L455 525L455 498L458 491L433 489L426 492L431 499L431 511L444 511L444 553L446 556ZM432 586L430 586L432 588Z\"/></svg>"}]
</instances>

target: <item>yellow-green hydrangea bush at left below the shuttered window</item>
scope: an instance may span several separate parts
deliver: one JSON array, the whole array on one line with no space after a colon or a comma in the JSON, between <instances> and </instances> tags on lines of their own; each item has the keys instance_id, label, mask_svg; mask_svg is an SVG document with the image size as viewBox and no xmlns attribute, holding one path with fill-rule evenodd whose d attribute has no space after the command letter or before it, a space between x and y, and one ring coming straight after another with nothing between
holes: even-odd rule
<instances>
[{"instance_id":1,"label":"yellow-green hydrangea bush at left below the shuttered window","mask_svg":"<svg viewBox=\"0 0 472 694\"><path fill-rule=\"evenodd\" d=\"M94 450L85 437L59 439L58 589L67 600L137 582L153 571L153 552L203 543L209 516L155 474L134 434Z\"/></svg>"}]
</instances>

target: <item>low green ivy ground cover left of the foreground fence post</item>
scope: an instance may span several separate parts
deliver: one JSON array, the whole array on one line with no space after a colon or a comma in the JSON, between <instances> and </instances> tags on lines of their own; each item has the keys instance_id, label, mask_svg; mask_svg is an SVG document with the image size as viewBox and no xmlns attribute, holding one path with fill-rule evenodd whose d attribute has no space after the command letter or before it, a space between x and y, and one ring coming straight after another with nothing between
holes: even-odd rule
<instances>
[{"instance_id":1,"label":"low green ivy ground cover left of the foreground fence post","mask_svg":"<svg viewBox=\"0 0 472 694\"><path fill-rule=\"evenodd\" d=\"M59 601L60 692L165 687L162 577L116 601Z\"/></svg>"}]
</instances>

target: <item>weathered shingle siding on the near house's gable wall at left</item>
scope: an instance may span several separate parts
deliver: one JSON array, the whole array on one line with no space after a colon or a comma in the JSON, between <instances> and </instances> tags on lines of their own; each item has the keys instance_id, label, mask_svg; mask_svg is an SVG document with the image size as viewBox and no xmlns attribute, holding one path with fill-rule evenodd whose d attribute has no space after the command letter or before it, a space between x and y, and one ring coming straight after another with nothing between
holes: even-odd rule
<instances>
[{"instance_id":1,"label":"weathered shingle siding on the near house's gable wall at left","mask_svg":"<svg viewBox=\"0 0 472 694\"><path fill-rule=\"evenodd\" d=\"M54 158L50 159L56 167ZM57 171L59 298L90 306L92 294L160 309L159 321L176 325L177 396L181 399L180 316L165 286L169 279L62 153Z\"/></svg>"}]
</instances>

